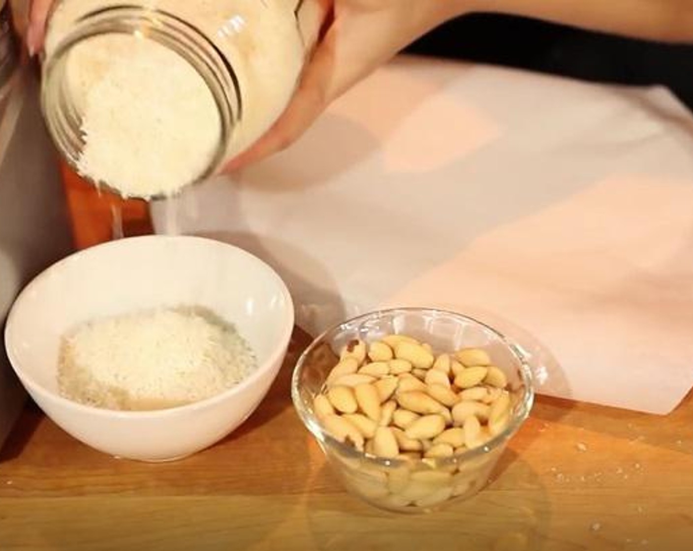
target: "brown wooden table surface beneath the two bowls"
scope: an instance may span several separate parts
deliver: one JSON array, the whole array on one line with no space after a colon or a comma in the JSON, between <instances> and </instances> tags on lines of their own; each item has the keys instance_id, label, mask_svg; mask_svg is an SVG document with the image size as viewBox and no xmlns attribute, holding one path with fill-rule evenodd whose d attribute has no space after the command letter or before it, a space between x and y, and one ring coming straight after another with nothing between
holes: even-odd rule
<instances>
[{"instance_id":1,"label":"brown wooden table surface beneath the two bowls","mask_svg":"<svg viewBox=\"0 0 693 551\"><path fill-rule=\"evenodd\" d=\"M150 231L142 204L66 182L80 247L110 238L112 204ZM28 405L0 454L0 551L693 549L693 394L667 417L539 397L482 493L400 516L345 493L295 414L307 342L241 428L179 462L115 460Z\"/></svg>"}]
</instances>

